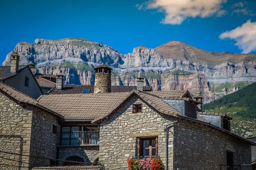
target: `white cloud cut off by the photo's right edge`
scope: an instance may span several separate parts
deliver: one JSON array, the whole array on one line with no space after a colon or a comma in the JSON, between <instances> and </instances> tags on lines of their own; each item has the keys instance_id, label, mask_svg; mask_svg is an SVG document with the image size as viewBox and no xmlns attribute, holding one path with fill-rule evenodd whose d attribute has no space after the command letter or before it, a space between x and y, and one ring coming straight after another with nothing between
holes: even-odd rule
<instances>
[{"instance_id":1,"label":"white cloud cut off by the photo's right edge","mask_svg":"<svg viewBox=\"0 0 256 170\"><path fill-rule=\"evenodd\" d=\"M222 33L219 38L235 40L235 45L243 50L242 53L256 51L256 22L248 20L242 26Z\"/></svg>"}]
</instances>

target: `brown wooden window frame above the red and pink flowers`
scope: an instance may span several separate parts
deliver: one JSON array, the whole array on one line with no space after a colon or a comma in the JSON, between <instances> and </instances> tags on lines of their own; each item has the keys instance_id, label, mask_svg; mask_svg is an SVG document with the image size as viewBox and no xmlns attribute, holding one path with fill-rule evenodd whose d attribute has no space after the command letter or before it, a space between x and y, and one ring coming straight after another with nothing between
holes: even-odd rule
<instances>
[{"instance_id":1,"label":"brown wooden window frame above the red and pink flowers","mask_svg":"<svg viewBox=\"0 0 256 170\"><path fill-rule=\"evenodd\" d=\"M156 140L156 147L152 147L152 139ZM149 147L143 148L143 141L144 140L149 140L151 141L149 144ZM158 137L149 137L149 138L138 138L137 139L138 144L137 144L137 156L157 156L158 155ZM149 149L149 155L143 155L143 149ZM152 149L156 149L156 155L152 155Z\"/></svg>"}]
</instances>

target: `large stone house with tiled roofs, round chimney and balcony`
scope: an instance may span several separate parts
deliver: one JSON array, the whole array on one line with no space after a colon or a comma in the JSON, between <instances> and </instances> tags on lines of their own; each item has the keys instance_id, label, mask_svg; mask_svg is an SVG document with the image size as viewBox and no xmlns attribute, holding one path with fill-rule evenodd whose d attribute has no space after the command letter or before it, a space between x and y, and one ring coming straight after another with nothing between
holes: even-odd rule
<instances>
[{"instance_id":1,"label":"large stone house with tiled roofs, round chimney and balcony","mask_svg":"<svg viewBox=\"0 0 256 170\"><path fill-rule=\"evenodd\" d=\"M23 139L24 154L60 159L23 160L33 167L71 165L61 160L100 161L105 169L125 170L128 159L145 156L158 156L169 170L220 170L251 163L251 146L256 144L230 132L223 123L225 119L228 125L227 115L214 114L220 119L212 124L212 116L204 117L211 113L200 112L201 96L143 91L143 77L137 78L137 89L114 93L111 68L100 65L95 72L94 93L49 93L37 100L0 83L0 151L20 150L18 142L11 147L15 140L6 138L9 134ZM65 91L62 75L56 76L54 91ZM236 169L250 170L251 165Z\"/></svg>"}]
</instances>

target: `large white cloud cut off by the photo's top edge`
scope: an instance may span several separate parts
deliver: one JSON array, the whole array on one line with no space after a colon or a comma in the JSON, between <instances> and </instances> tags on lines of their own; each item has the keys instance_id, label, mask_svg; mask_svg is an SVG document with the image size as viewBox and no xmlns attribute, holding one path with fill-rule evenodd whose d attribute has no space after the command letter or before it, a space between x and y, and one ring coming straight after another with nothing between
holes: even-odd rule
<instances>
[{"instance_id":1,"label":"large white cloud cut off by the photo's top edge","mask_svg":"<svg viewBox=\"0 0 256 170\"><path fill-rule=\"evenodd\" d=\"M226 13L221 10L222 3L227 0L149 0L136 4L139 10L157 9L164 12L163 24L181 24L188 17L210 17L214 14L221 16Z\"/></svg>"}]
</instances>

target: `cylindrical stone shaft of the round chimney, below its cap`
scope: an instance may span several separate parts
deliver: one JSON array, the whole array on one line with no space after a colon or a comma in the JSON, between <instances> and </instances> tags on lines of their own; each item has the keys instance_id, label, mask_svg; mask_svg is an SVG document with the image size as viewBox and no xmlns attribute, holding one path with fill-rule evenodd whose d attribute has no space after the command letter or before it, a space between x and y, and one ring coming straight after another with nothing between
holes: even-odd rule
<instances>
[{"instance_id":1,"label":"cylindrical stone shaft of the round chimney, below its cap","mask_svg":"<svg viewBox=\"0 0 256 170\"><path fill-rule=\"evenodd\" d=\"M110 93L111 92L111 74L95 73L94 93Z\"/></svg>"}]
</instances>

